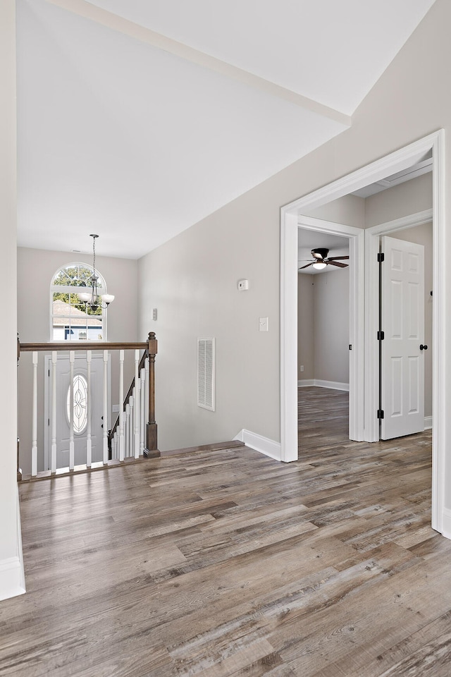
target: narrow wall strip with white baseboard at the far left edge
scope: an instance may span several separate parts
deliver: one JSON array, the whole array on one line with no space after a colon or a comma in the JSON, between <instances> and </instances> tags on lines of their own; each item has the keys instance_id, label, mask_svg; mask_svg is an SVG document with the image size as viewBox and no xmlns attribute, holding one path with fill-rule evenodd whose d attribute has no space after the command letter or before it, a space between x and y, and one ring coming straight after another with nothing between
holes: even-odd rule
<instances>
[{"instance_id":1,"label":"narrow wall strip with white baseboard at the far left edge","mask_svg":"<svg viewBox=\"0 0 451 677\"><path fill-rule=\"evenodd\" d=\"M16 28L14 0L0 3L0 599L25 592L17 490Z\"/></svg>"}]
</instances>

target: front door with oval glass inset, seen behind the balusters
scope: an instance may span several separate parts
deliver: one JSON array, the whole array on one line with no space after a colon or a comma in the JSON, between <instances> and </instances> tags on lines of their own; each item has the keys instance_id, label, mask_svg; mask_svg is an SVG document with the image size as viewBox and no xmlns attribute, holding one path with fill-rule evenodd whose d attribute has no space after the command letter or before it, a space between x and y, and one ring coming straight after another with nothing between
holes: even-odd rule
<instances>
[{"instance_id":1,"label":"front door with oval glass inset, seen behind the balusters","mask_svg":"<svg viewBox=\"0 0 451 677\"><path fill-rule=\"evenodd\" d=\"M92 463L102 461L103 458L103 357L92 353L91 362L91 440ZM51 361L48 369L51 379ZM75 352L74 362L74 465L86 463L87 446L87 408L85 389L87 386L87 362L83 353ZM68 468L70 443L70 362L69 355L58 355L56 362L56 468ZM49 399L51 386L47 386ZM51 425L47 404L47 427ZM46 453L44 463L49 470L50 435L46 435Z\"/></svg>"}]
</instances>

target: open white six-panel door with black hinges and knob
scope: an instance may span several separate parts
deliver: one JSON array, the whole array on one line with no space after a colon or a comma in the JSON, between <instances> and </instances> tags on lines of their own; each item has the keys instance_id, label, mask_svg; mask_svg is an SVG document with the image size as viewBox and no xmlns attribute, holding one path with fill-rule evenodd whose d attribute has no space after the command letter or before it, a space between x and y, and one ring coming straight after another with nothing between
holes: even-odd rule
<instances>
[{"instance_id":1,"label":"open white six-panel door with black hinges and knob","mask_svg":"<svg viewBox=\"0 0 451 677\"><path fill-rule=\"evenodd\" d=\"M392 439L424 430L424 247L383 236L382 251L381 437Z\"/></svg>"}]
</instances>

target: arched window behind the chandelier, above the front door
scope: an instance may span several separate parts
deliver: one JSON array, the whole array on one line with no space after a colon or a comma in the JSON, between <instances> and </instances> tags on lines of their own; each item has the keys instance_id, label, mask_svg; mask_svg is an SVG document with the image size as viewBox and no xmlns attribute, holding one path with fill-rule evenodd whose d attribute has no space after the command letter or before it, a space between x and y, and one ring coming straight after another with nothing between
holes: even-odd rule
<instances>
[{"instance_id":1,"label":"arched window behind the chandelier, above the front door","mask_svg":"<svg viewBox=\"0 0 451 677\"><path fill-rule=\"evenodd\" d=\"M78 294L89 291L94 269L87 263L70 263L58 269L50 285L50 336L52 341L106 341L106 310L91 307ZM106 283L96 268L97 288L106 294ZM99 298L100 301L100 298Z\"/></svg>"}]
</instances>

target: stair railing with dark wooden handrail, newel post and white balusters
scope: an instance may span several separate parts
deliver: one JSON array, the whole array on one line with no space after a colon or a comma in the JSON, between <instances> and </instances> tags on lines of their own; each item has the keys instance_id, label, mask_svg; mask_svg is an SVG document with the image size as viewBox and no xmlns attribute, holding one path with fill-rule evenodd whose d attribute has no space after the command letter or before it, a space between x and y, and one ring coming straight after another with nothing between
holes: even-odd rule
<instances>
[{"instance_id":1,"label":"stair railing with dark wooden handrail, newel post and white balusters","mask_svg":"<svg viewBox=\"0 0 451 677\"><path fill-rule=\"evenodd\" d=\"M135 351L135 377L130 385L127 396L123 396L124 381L124 359L125 351ZM64 341L51 343L20 343L18 341L18 363L20 353L32 353L32 413L31 413L31 477L38 475L38 456L42 458L42 453L38 454L38 355L47 353L51 355L51 367L49 369L49 470L50 475L56 474L57 470L57 391L56 391L56 365L58 362L58 353L68 355L70 368L70 381L68 391L68 401L70 401L69 418L69 444L68 444L68 468L72 471L75 468L74 453L74 369L75 353L85 351L86 353L86 401L87 410L86 424L86 455L85 463L82 467L91 468L93 465L106 465L109 461L123 462L125 458L146 458L159 456L157 444L157 425L155 421L155 356L158 351L158 343L154 332L149 333L147 342L118 343L109 341ZM103 357L103 397L102 397L102 458L100 462L92 461L92 438L91 438L91 364L92 353L96 351ZM111 352L118 353L119 362L119 414L117 420L111 429L108 422L111 420L109 414L109 364L111 364ZM140 354L142 352L142 355ZM44 472L45 474L45 472ZM18 477L21 471L18 463Z\"/></svg>"}]
</instances>

